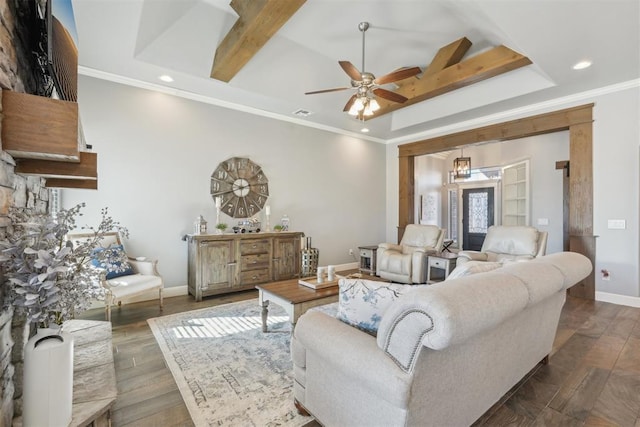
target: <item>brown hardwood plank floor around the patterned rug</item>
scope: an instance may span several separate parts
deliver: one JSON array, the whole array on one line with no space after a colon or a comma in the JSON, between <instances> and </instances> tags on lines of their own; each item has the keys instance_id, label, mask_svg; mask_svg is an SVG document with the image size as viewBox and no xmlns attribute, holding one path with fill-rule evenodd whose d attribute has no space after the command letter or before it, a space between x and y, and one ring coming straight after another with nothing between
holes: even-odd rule
<instances>
[{"instance_id":1,"label":"brown hardwood plank floor around the patterned rug","mask_svg":"<svg viewBox=\"0 0 640 427\"><path fill-rule=\"evenodd\" d=\"M256 291L165 299L162 314L257 298ZM192 426L146 319L155 301L112 312L118 399L112 425ZM83 319L103 320L102 310ZM293 404L293 403L292 403ZM316 423L312 423L316 425ZM640 308L568 297L547 365L539 365L474 426L640 427Z\"/></svg>"}]
</instances>

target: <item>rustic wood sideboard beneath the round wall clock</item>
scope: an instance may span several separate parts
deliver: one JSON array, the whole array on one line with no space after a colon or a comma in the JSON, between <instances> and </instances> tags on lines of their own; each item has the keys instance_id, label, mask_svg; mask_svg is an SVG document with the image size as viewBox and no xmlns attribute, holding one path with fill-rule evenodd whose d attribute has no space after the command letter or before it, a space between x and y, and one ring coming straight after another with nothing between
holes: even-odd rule
<instances>
[{"instance_id":1,"label":"rustic wood sideboard beneath the round wall clock","mask_svg":"<svg viewBox=\"0 0 640 427\"><path fill-rule=\"evenodd\" d=\"M300 275L302 232L189 234L189 294L253 289Z\"/></svg>"}]
</instances>

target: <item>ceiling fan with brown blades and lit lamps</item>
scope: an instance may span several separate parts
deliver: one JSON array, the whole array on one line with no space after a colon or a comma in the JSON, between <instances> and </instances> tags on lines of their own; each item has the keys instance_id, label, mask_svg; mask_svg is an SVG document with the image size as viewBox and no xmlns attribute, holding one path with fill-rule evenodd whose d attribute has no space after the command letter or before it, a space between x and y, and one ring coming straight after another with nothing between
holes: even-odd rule
<instances>
[{"instance_id":1,"label":"ceiling fan with brown blades and lit lamps","mask_svg":"<svg viewBox=\"0 0 640 427\"><path fill-rule=\"evenodd\" d=\"M361 22L358 25L358 29L362 32L362 72L360 72L360 70L358 70L349 61L338 61L340 67L342 67L344 72L351 78L351 87L316 90L313 92L306 92L305 95L355 89L356 93L349 98L349 101L345 104L343 111L347 111L353 116L358 116L360 119L364 119L364 116L373 115L373 113L380 108L375 96L398 103L404 103L407 101L405 96L383 89L380 86L413 77L420 74L422 70L420 70L420 67L405 67L378 78L376 78L372 73L366 72L364 68L364 37L368 28L368 22Z\"/></svg>"}]
</instances>

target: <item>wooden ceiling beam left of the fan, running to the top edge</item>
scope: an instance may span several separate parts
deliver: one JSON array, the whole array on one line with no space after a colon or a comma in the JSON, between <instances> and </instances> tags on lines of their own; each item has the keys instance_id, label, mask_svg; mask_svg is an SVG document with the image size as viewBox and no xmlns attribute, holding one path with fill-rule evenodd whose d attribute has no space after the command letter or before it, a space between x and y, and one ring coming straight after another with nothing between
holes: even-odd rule
<instances>
[{"instance_id":1,"label":"wooden ceiling beam left of the fan, running to the top edge","mask_svg":"<svg viewBox=\"0 0 640 427\"><path fill-rule=\"evenodd\" d=\"M306 0L232 0L238 20L216 49L211 78L229 82Z\"/></svg>"}]
</instances>

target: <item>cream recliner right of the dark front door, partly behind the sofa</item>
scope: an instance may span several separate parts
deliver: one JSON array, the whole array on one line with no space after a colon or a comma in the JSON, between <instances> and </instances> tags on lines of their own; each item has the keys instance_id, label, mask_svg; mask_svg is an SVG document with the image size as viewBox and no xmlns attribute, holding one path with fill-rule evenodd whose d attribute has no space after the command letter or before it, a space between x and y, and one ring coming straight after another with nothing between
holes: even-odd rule
<instances>
[{"instance_id":1,"label":"cream recliner right of the dark front door, partly behind the sofa","mask_svg":"<svg viewBox=\"0 0 640 427\"><path fill-rule=\"evenodd\" d=\"M456 265L469 261L528 261L541 257L547 250L546 231L520 225L492 225L487 230L480 251L460 251Z\"/></svg>"}]
</instances>

